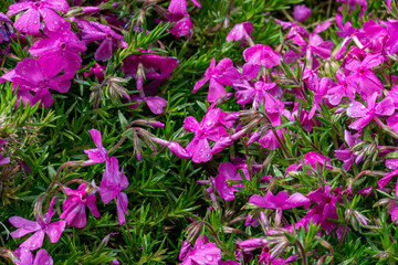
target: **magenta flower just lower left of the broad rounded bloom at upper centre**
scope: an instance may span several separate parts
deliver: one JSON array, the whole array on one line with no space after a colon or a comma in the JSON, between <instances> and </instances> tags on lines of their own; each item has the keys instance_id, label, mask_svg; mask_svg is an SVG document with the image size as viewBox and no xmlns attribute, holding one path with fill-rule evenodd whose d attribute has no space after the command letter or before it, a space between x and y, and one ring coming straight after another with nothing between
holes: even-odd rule
<instances>
[{"instance_id":1,"label":"magenta flower just lower left of the broad rounded bloom at upper centre","mask_svg":"<svg viewBox=\"0 0 398 265\"><path fill-rule=\"evenodd\" d=\"M210 62L210 66L205 72L205 78L198 81L195 86L192 93L197 93L197 91L202 87L209 80L209 94L208 102L216 102L222 96L227 95L227 91L222 85L228 85L226 78L222 77L226 70L233 66L233 63L230 59L221 60L216 66L216 59L212 59Z\"/></svg>"}]
</instances>

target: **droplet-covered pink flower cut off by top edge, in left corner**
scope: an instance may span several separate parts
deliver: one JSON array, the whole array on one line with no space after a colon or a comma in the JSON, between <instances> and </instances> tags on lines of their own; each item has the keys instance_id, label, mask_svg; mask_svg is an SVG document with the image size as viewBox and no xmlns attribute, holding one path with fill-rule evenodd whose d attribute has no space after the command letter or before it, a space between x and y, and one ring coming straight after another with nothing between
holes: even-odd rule
<instances>
[{"instance_id":1,"label":"droplet-covered pink flower cut off by top edge, in left corner","mask_svg":"<svg viewBox=\"0 0 398 265\"><path fill-rule=\"evenodd\" d=\"M55 11L67 12L70 9L66 0L40 0L36 2L19 2L11 4L7 14L24 12L14 23L18 31L28 34L36 34L40 30L40 15L43 18L45 26L50 31L57 31L65 23ZM55 10L55 11L54 11Z\"/></svg>"}]
</instances>

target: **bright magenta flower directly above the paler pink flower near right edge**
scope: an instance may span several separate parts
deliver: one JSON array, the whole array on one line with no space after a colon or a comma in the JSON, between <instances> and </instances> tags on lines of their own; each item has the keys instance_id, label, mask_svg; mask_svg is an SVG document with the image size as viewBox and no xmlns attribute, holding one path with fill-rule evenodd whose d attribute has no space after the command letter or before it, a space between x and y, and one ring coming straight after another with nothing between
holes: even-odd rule
<instances>
[{"instance_id":1,"label":"bright magenta flower directly above the paler pink flower near right edge","mask_svg":"<svg viewBox=\"0 0 398 265\"><path fill-rule=\"evenodd\" d=\"M357 85L357 92L363 98L369 97L374 93L381 94L384 86L370 68L380 65L383 60L383 56L376 54L367 55L363 62L352 60L346 64L346 70L354 72L347 77L347 82Z\"/></svg>"}]
</instances>

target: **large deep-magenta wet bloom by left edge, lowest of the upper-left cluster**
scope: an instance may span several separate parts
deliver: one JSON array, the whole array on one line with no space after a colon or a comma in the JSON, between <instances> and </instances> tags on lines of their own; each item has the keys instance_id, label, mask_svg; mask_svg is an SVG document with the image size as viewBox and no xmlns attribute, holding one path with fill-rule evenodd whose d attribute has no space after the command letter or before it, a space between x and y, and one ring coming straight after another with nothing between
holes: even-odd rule
<instances>
[{"instance_id":1,"label":"large deep-magenta wet bloom by left edge, lowest of the upper-left cluster","mask_svg":"<svg viewBox=\"0 0 398 265\"><path fill-rule=\"evenodd\" d=\"M41 56L19 62L10 78L13 89L19 86L17 96L22 97L24 103L30 100L34 105L41 100L44 107L50 107L54 102L50 89L66 93L71 86L71 74L59 75L65 65L65 60L59 56Z\"/></svg>"}]
</instances>

